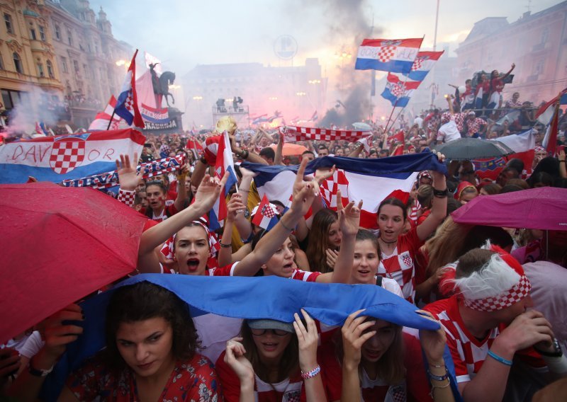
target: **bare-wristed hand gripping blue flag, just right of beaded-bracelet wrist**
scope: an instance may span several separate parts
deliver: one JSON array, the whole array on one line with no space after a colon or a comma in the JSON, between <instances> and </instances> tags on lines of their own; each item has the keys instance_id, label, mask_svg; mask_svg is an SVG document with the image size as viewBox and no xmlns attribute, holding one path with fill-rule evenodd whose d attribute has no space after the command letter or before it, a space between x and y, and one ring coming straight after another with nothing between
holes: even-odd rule
<instances>
[{"instance_id":1,"label":"bare-wristed hand gripping blue flag, just right of beaded-bracelet wrist","mask_svg":"<svg viewBox=\"0 0 567 402\"><path fill-rule=\"evenodd\" d=\"M366 316L358 316L364 309L354 311L344 321L341 328L342 348L344 350L343 364L350 368L358 367L361 360L362 345L374 335L376 331L367 331L376 324L375 320L366 321Z\"/></svg>"}]
</instances>

